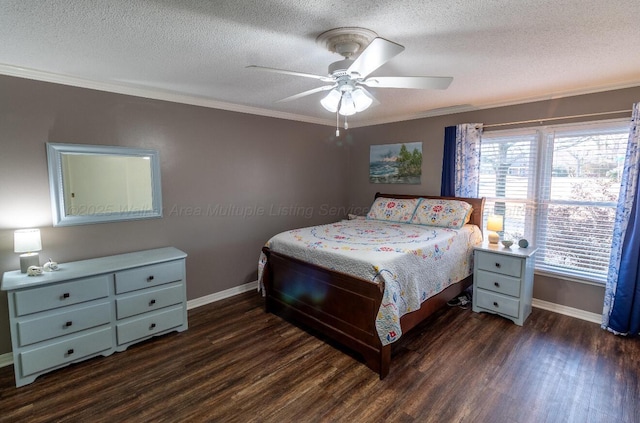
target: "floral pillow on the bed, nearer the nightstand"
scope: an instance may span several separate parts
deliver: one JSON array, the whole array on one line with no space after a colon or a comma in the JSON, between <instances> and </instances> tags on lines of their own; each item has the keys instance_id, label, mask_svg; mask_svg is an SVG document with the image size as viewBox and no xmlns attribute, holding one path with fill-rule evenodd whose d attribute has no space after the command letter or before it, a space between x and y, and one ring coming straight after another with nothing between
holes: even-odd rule
<instances>
[{"instance_id":1,"label":"floral pillow on the bed, nearer the nightstand","mask_svg":"<svg viewBox=\"0 0 640 423\"><path fill-rule=\"evenodd\" d=\"M411 223L460 229L471 217L472 207L460 200L421 199Z\"/></svg>"}]
</instances>

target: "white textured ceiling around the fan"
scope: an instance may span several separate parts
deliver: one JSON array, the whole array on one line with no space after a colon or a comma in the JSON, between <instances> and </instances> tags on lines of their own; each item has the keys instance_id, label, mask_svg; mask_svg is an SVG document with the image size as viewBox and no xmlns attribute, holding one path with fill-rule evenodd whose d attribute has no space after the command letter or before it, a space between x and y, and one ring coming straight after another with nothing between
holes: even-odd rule
<instances>
[{"instance_id":1,"label":"white textured ceiling around the fan","mask_svg":"<svg viewBox=\"0 0 640 423\"><path fill-rule=\"evenodd\" d=\"M638 0L0 0L0 74L335 124L316 44L364 27L405 46L378 76L452 76L445 91L371 89L353 126L640 85Z\"/></svg>"}]
</instances>

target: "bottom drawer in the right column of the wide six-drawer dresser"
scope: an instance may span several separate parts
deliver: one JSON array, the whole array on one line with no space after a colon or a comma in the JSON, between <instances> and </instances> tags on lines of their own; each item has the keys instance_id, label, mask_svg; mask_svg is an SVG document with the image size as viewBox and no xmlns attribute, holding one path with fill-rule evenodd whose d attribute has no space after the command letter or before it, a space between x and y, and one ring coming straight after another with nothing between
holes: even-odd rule
<instances>
[{"instance_id":1,"label":"bottom drawer in the right column of the wide six-drawer dresser","mask_svg":"<svg viewBox=\"0 0 640 423\"><path fill-rule=\"evenodd\" d=\"M184 323L182 306L172 307L140 318L120 323L116 327L118 345L178 327Z\"/></svg>"}]
</instances>

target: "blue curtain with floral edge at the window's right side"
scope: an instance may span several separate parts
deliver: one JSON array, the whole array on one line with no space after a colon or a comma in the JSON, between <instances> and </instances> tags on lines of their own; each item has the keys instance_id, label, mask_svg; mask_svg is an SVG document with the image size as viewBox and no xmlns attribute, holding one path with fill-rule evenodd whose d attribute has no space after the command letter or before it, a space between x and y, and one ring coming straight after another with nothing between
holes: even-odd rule
<instances>
[{"instance_id":1,"label":"blue curtain with floral edge at the window's right side","mask_svg":"<svg viewBox=\"0 0 640 423\"><path fill-rule=\"evenodd\" d=\"M604 296L602 328L619 335L640 334L640 103L633 105L613 245Z\"/></svg>"}]
</instances>

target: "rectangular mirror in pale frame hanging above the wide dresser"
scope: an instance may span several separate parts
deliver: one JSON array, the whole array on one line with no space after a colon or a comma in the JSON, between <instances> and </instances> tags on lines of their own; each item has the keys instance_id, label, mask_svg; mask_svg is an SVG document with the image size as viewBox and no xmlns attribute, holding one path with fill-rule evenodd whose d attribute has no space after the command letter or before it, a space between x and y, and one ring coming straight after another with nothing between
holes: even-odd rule
<instances>
[{"instance_id":1,"label":"rectangular mirror in pale frame hanging above the wide dresser","mask_svg":"<svg viewBox=\"0 0 640 423\"><path fill-rule=\"evenodd\" d=\"M53 226L162 217L156 150L47 143Z\"/></svg>"}]
</instances>

